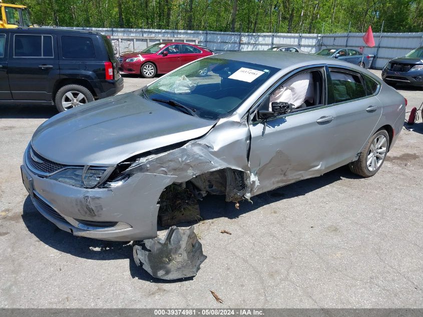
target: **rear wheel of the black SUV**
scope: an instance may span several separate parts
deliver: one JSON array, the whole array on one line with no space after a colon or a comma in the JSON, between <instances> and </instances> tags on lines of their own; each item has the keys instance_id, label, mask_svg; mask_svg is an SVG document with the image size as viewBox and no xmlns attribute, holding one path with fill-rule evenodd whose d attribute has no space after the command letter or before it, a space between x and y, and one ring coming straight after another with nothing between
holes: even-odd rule
<instances>
[{"instance_id":1,"label":"rear wheel of the black SUV","mask_svg":"<svg viewBox=\"0 0 423 317\"><path fill-rule=\"evenodd\" d=\"M93 94L81 85L63 86L56 94L55 104L59 112L94 101Z\"/></svg>"}]
</instances>

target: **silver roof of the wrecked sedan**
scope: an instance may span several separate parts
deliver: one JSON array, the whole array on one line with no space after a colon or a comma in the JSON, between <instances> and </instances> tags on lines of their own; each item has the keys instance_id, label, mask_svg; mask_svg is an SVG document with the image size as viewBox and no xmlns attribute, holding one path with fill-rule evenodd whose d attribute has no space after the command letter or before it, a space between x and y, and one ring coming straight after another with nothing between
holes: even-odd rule
<instances>
[{"instance_id":1,"label":"silver roof of the wrecked sedan","mask_svg":"<svg viewBox=\"0 0 423 317\"><path fill-rule=\"evenodd\" d=\"M282 54L283 58L281 58ZM207 58L218 58L225 60L234 60L245 63L259 64L268 67L275 67L281 70L291 69L294 66L302 67L307 65L317 64L330 64L346 66L345 62L338 61L329 57L323 57L313 54L297 54L292 52L276 52L276 51L243 51L243 52L231 52L222 53L219 55L213 55ZM347 65L352 69L356 68L355 65Z\"/></svg>"}]
</instances>

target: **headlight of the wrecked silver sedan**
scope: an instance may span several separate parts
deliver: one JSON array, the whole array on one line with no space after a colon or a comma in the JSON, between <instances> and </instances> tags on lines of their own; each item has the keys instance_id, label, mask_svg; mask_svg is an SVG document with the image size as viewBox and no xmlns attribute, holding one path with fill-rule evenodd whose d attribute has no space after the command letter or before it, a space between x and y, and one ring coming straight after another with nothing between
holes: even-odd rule
<instances>
[{"instance_id":1,"label":"headlight of the wrecked silver sedan","mask_svg":"<svg viewBox=\"0 0 423 317\"><path fill-rule=\"evenodd\" d=\"M94 188L110 175L114 167L67 168L50 176L50 179L75 187Z\"/></svg>"}]
</instances>

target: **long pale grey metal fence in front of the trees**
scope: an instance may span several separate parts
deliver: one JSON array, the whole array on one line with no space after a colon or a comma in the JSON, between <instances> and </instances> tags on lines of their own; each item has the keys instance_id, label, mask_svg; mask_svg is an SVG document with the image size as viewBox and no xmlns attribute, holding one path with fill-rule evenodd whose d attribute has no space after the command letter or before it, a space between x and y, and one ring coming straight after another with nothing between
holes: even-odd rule
<instances>
[{"instance_id":1,"label":"long pale grey metal fence in front of the trees","mask_svg":"<svg viewBox=\"0 0 423 317\"><path fill-rule=\"evenodd\" d=\"M267 50L274 45L289 45L300 48L308 53L315 53L326 47L364 47L364 53L373 54L371 68L381 69L390 59L404 56L411 50L423 45L423 32L420 33L374 33L374 48L365 47L362 33L341 34L296 34L296 33L230 33L214 31L187 30L143 30L143 29L102 29L102 28L72 28L92 30L110 35L119 52L140 50L149 44L171 39L183 40L189 43L198 42L215 51L249 51Z\"/></svg>"}]
</instances>

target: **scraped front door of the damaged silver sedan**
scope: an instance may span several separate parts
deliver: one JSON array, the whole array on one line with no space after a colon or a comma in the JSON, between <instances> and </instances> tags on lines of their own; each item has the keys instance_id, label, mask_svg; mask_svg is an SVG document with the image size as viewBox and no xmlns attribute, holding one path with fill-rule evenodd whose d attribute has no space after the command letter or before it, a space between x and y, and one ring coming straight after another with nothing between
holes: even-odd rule
<instances>
[{"instance_id":1,"label":"scraped front door of the damaged silver sedan","mask_svg":"<svg viewBox=\"0 0 423 317\"><path fill-rule=\"evenodd\" d=\"M267 120L251 114L249 164L258 184L252 190L253 195L319 176L330 169L332 164L328 158L331 155L335 113L325 106L327 85L324 68L318 72L321 82L316 89L320 89L321 96L314 105ZM269 99L266 103L266 98L270 94L272 91L260 100L259 109L268 105Z\"/></svg>"}]
</instances>

